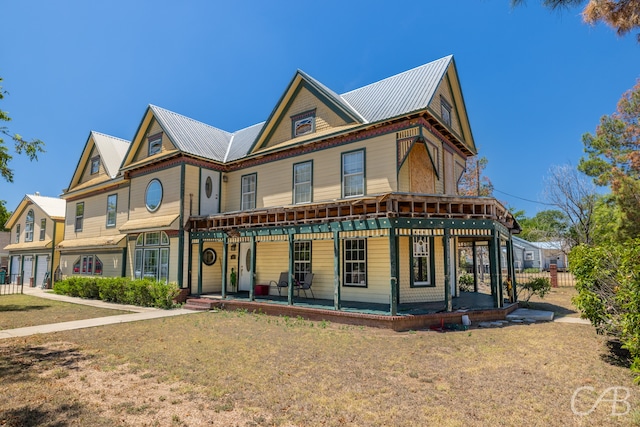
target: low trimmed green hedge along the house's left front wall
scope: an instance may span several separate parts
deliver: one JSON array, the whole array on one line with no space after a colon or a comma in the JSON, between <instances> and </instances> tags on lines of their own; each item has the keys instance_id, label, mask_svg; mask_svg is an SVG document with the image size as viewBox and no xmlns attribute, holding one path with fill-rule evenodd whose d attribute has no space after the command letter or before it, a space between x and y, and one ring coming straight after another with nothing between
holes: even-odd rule
<instances>
[{"instance_id":1,"label":"low trimmed green hedge along the house's left front wall","mask_svg":"<svg viewBox=\"0 0 640 427\"><path fill-rule=\"evenodd\" d=\"M179 293L175 283L128 277L69 277L53 285L53 292L72 297L101 299L119 304L172 308Z\"/></svg>"}]
</instances>

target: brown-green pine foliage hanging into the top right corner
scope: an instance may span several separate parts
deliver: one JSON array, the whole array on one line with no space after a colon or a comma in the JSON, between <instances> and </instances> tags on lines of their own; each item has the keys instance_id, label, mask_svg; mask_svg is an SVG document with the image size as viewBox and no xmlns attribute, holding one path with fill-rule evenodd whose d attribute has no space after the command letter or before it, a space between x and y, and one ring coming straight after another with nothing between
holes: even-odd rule
<instances>
[{"instance_id":1,"label":"brown-green pine foliage hanging into the top right corner","mask_svg":"<svg viewBox=\"0 0 640 427\"><path fill-rule=\"evenodd\" d=\"M526 0L511 0L513 6L524 4ZM580 6L582 19L587 24L595 25L604 22L623 36L640 28L640 0L542 0L542 5L549 9L561 9ZM637 35L640 42L640 33Z\"/></svg>"}]
</instances>

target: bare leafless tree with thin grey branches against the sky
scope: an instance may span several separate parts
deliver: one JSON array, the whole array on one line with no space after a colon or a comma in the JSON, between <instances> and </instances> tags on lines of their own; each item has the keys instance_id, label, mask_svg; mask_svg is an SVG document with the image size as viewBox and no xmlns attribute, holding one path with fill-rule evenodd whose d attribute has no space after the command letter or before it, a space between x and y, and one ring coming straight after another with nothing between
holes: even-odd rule
<instances>
[{"instance_id":1,"label":"bare leafless tree with thin grey branches against the sky","mask_svg":"<svg viewBox=\"0 0 640 427\"><path fill-rule=\"evenodd\" d=\"M571 165L552 166L545 177L544 197L568 220L564 237L571 246L592 243L598 195L585 175Z\"/></svg>"}]
</instances>

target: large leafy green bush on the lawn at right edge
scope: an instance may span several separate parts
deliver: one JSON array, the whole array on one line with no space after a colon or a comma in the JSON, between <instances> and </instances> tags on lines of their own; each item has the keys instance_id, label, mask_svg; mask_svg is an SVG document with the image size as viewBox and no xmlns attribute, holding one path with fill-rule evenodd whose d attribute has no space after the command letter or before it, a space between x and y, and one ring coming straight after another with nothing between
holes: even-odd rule
<instances>
[{"instance_id":1,"label":"large leafy green bush on the lawn at right edge","mask_svg":"<svg viewBox=\"0 0 640 427\"><path fill-rule=\"evenodd\" d=\"M578 295L573 302L595 326L629 350L631 369L640 373L640 239L569 254ZM637 378L640 380L640 377Z\"/></svg>"}]
</instances>

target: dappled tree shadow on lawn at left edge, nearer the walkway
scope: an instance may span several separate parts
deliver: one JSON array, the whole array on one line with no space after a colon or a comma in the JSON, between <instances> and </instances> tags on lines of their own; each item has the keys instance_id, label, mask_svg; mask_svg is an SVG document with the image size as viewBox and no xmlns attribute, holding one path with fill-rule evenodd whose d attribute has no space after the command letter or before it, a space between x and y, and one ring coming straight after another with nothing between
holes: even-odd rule
<instances>
[{"instance_id":1,"label":"dappled tree shadow on lawn at left edge, nearer the walkway","mask_svg":"<svg viewBox=\"0 0 640 427\"><path fill-rule=\"evenodd\" d=\"M78 369L78 362L87 359L77 348L0 347L0 378L6 383L28 381L46 369Z\"/></svg>"}]
</instances>

